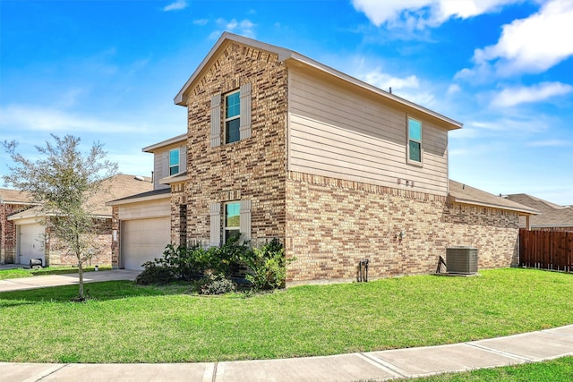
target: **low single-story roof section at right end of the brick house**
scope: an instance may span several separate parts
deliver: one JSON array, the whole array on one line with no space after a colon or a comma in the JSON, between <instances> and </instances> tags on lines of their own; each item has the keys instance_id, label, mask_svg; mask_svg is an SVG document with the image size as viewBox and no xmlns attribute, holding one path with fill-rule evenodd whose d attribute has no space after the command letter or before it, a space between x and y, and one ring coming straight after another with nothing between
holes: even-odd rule
<instances>
[{"instance_id":1,"label":"low single-story roof section at right end of the brick house","mask_svg":"<svg viewBox=\"0 0 573 382\"><path fill-rule=\"evenodd\" d=\"M515 211L519 215L525 216L539 214L539 211L535 208L524 206L516 201L478 190L464 183L452 181L451 179L449 180L448 199L450 202Z\"/></svg>"}]
</instances>

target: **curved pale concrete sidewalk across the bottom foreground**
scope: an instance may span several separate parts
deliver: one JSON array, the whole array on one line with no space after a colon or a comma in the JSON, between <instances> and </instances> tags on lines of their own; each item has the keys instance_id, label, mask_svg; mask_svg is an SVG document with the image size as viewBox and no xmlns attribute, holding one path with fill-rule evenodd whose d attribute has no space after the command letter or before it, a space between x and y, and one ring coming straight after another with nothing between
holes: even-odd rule
<instances>
[{"instance_id":1,"label":"curved pale concrete sidewalk across the bottom foreground","mask_svg":"<svg viewBox=\"0 0 573 382\"><path fill-rule=\"evenodd\" d=\"M328 357L175 364L0 363L20 381L357 381L414 378L573 355L573 325L464 344Z\"/></svg>"}]
</instances>

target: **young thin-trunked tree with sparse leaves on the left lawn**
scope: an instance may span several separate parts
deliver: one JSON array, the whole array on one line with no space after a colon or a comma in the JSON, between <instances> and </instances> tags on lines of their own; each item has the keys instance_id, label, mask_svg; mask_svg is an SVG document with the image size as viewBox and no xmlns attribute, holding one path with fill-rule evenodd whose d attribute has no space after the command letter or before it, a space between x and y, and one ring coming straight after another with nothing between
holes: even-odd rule
<instances>
[{"instance_id":1,"label":"young thin-trunked tree with sparse leaves on the left lawn","mask_svg":"<svg viewBox=\"0 0 573 382\"><path fill-rule=\"evenodd\" d=\"M14 166L8 167L10 173L3 178L4 183L30 193L38 203L38 221L46 226L50 240L56 238L77 258L79 301L83 301L83 263L95 250L99 223L91 212L95 207L91 200L98 192L106 191L104 180L115 174L117 164L106 159L107 152L99 142L82 153L80 138L51 135L53 143L46 141L46 147L36 146L36 160L17 153L15 141L4 140L4 149Z\"/></svg>"}]
</instances>

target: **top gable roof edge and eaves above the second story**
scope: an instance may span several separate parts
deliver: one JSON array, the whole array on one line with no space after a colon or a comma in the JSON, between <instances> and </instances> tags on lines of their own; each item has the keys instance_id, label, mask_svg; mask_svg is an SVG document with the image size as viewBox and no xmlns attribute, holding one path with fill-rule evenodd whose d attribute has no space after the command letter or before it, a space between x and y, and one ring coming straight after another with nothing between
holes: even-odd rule
<instances>
[{"instance_id":1,"label":"top gable roof edge and eaves above the second story","mask_svg":"<svg viewBox=\"0 0 573 382\"><path fill-rule=\"evenodd\" d=\"M296 53L294 50L286 49L284 47L277 47L252 38L245 38L243 36L238 36L229 32L224 32L221 37L218 38L217 43L211 48L209 54L201 61L201 64L199 64L195 72L192 73L189 80L185 82L184 87L179 90L174 98L175 105L186 106L188 92L192 89L194 82L202 77L204 71L209 70L210 64L212 64L211 61L218 56L219 50L224 50L231 43L246 45L265 52L273 53L278 55L279 62L285 62L286 64L290 64L292 62L295 64L301 64L307 68L317 69L342 81L354 84L355 86L358 86L362 89L366 89L372 92L372 94L386 98L390 102L398 104L399 106L405 106L407 109L421 112L424 115L431 115L440 122L444 123L448 130L460 129L463 126L463 123L455 121L445 115L440 115L439 113L436 113L426 107L417 105L414 102L408 101L407 99L400 98L392 93L389 93L388 91L376 88L369 83L360 81L346 73L339 72L338 70L333 69L325 64L321 64L318 61L312 60L312 58Z\"/></svg>"}]
</instances>

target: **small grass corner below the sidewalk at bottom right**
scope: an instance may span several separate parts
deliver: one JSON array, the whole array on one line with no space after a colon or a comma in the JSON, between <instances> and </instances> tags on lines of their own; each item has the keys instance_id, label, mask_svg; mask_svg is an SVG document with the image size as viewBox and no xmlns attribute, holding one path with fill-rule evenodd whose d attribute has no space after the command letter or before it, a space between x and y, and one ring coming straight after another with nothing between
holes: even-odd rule
<instances>
[{"instance_id":1,"label":"small grass corner below the sidewalk at bottom right","mask_svg":"<svg viewBox=\"0 0 573 382\"><path fill-rule=\"evenodd\" d=\"M573 380L573 357L410 380L412 382L570 382Z\"/></svg>"}]
</instances>

